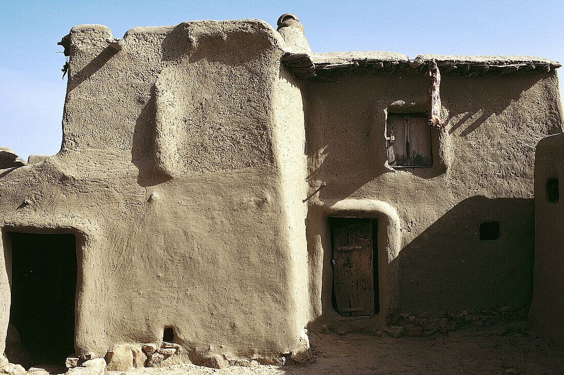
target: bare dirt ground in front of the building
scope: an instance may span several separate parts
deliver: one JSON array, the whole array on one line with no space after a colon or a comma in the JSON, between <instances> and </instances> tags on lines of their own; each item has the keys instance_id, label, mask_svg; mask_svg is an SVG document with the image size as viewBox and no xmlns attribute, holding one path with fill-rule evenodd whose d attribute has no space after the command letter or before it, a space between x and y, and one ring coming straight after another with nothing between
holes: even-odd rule
<instances>
[{"instance_id":1,"label":"bare dirt ground in front of the building","mask_svg":"<svg viewBox=\"0 0 564 375\"><path fill-rule=\"evenodd\" d=\"M429 337L310 334L310 341L314 359L308 366L184 365L112 374L564 374L564 348L528 331L524 323Z\"/></svg>"}]
</instances>

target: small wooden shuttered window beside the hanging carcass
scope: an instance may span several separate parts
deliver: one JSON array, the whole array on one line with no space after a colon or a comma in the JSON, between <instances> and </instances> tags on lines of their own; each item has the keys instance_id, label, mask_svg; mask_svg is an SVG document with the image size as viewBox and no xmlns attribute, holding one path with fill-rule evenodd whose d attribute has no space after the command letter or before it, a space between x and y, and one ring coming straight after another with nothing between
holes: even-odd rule
<instances>
[{"instance_id":1,"label":"small wooden shuttered window beside the hanging carcass","mask_svg":"<svg viewBox=\"0 0 564 375\"><path fill-rule=\"evenodd\" d=\"M431 127L424 114L394 114L386 119L388 164L392 167L430 167Z\"/></svg>"}]
</instances>

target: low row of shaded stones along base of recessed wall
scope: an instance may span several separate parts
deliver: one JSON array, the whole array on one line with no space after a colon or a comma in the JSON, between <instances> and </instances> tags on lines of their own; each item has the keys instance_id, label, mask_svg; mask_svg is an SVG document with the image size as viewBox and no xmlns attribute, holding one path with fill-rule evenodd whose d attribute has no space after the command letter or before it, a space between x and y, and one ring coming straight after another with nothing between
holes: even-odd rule
<instances>
[{"instance_id":1,"label":"low row of shaded stones along base of recessed wall","mask_svg":"<svg viewBox=\"0 0 564 375\"><path fill-rule=\"evenodd\" d=\"M510 306L499 310L474 310L456 312L425 311L420 314L402 312L393 316L387 332L393 337L429 336L434 333L447 333L464 328L492 327L527 319L525 309Z\"/></svg>"}]
</instances>

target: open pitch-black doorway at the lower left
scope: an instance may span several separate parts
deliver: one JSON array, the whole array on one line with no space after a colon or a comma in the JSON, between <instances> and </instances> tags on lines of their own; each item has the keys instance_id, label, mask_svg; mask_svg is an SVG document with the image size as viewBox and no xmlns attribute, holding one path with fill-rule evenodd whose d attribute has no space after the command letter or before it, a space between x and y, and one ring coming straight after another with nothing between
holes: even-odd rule
<instances>
[{"instance_id":1,"label":"open pitch-black doorway at the lower left","mask_svg":"<svg viewBox=\"0 0 564 375\"><path fill-rule=\"evenodd\" d=\"M10 323L33 364L74 353L77 264L73 234L12 232Z\"/></svg>"}]
</instances>

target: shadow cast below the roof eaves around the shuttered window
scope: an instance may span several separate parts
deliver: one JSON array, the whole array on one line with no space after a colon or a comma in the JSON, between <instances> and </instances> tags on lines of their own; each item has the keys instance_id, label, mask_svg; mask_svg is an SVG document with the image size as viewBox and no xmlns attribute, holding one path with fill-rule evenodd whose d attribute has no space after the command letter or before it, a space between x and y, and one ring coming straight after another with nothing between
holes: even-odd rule
<instances>
[{"instance_id":1,"label":"shadow cast below the roof eaves around the shuttered window","mask_svg":"<svg viewBox=\"0 0 564 375\"><path fill-rule=\"evenodd\" d=\"M390 173L385 139L385 110L395 101L425 102L425 82L418 75L394 75L402 84L392 84L387 76L345 76L342 84L310 82L307 112L308 180L312 190L327 182L320 199L345 198L367 182ZM406 168L413 176L434 178L460 160L466 149L489 144L492 134L515 128L510 136L519 137L520 128L537 124L552 126L558 121L541 113L547 100L542 79L546 74L530 73L518 77L458 77L446 75L441 85L443 106L448 110L447 132L433 136L433 168ZM534 87L536 84L539 87ZM385 88L385 90L384 90ZM359 92L363 95L359 97ZM519 103L516 103L519 101ZM528 115L524 115L529 113ZM554 111L558 113L558 111ZM486 128L487 126L487 128ZM469 141L470 140L470 141ZM484 146L485 147L485 146ZM493 146L495 148L495 145ZM492 151L492 150L489 150ZM502 152L503 150L499 150ZM393 172L391 172L393 173ZM317 185L316 185L317 184Z\"/></svg>"}]
</instances>

